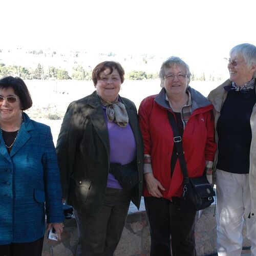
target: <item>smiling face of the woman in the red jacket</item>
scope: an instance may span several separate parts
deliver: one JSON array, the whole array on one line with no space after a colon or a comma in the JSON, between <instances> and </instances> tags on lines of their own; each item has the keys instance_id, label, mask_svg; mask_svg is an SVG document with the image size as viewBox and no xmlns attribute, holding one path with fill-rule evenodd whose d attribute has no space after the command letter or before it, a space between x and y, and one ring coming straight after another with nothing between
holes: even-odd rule
<instances>
[{"instance_id":1,"label":"smiling face of the woman in the red jacket","mask_svg":"<svg viewBox=\"0 0 256 256\"><path fill-rule=\"evenodd\" d=\"M175 76L172 78L170 75ZM186 75L185 67L173 65L169 68L165 68L165 78L162 80L162 83L168 97L186 94L188 78L182 76L179 78L178 75ZM170 78L168 78L168 76L170 76Z\"/></svg>"}]
</instances>

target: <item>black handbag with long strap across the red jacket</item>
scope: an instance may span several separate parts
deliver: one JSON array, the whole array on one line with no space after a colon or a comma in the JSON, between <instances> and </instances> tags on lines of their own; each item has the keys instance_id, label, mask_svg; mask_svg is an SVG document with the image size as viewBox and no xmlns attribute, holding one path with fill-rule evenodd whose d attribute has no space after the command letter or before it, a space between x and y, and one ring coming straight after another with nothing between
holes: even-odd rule
<instances>
[{"instance_id":1,"label":"black handbag with long strap across the red jacket","mask_svg":"<svg viewBox=\"0 0 256 256\"><path fill-rule=\"evenodd\" d=\"M196 210L205 209L214 202L215 191L208 182L205 173L202 177L188 177L182 138L173 114L168 112L168 117L173 129L174 144L183 174L183 198L192 203Z\"/></svg>"}]
</instances>

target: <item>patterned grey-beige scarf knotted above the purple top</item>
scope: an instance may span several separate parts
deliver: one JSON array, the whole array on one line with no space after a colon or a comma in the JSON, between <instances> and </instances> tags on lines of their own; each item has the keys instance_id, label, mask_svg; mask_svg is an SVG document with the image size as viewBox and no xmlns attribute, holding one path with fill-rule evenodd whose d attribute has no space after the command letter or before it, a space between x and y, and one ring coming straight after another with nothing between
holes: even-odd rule
<instances>
[{"instance_id":1,"label":"patterned grey-beige scarf knotted above the purple top","mask_svg":"<svg viewBox=\"0 0 256 256\"><path fill-rule=\"evenodd\" d=\"M99 98L101 104L106 107L108 120L110 122L114 121L120 127L126 127L129 123L129 117L125 105L118 101L118 95L113 103L104 100L100 95Z\"/></svg>"}]
</instances>

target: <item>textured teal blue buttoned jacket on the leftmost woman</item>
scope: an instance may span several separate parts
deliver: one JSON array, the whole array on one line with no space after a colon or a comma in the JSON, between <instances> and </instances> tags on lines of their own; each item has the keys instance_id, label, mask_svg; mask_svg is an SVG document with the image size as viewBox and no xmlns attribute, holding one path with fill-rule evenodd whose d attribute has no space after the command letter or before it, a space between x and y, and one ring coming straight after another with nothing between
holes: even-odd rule
<instances>
[{"instance_id":1,"label":"textured teal blue buttoned jacket on the leftmost woman","mask_svg":"<svg viewBox=\"0 0 256 256\"><path fill-rule=\"evenodd\" d=\"M10 154L0 133L0 245L35 241L63 222L62 193L50 127L23 113Z\"/></svg>"}]
</instances>

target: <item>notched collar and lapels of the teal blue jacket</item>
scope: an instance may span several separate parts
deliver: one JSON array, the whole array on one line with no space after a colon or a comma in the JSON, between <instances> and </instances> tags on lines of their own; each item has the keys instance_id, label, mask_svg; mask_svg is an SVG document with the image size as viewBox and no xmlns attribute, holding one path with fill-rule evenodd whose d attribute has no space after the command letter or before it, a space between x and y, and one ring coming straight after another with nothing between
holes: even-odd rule
<instances>
[{"instance_id":1,"label":"notched collar and lapels of the teal blue jacket","mask_svg":"<svg viewBox=\"0 0 256 256\"><path fill-rule=\"evenodd\" d=\"M34 125L30 120L29 116L26 113L23 113L23 123L20 126L19 132L17 134L16 141L12 147L10 154L5 146L3 135L0 136L0 155L4 156L7 159L10 159L17 151L22 148L26 142L30 139L31 135L29 131L34 130Z\"/></svg>"}]
</instances>

